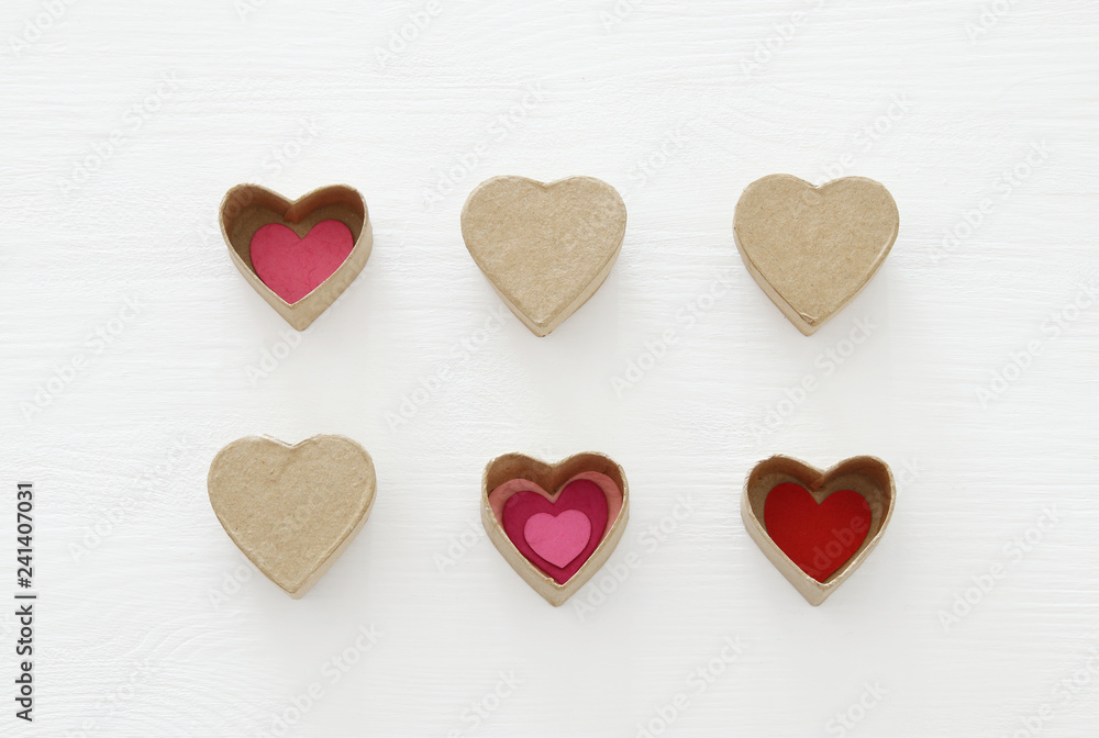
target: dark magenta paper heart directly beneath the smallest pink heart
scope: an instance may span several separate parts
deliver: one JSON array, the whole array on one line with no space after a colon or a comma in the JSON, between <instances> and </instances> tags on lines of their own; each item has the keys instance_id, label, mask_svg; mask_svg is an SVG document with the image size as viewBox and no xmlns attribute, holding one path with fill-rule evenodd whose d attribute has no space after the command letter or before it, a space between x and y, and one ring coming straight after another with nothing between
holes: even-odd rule
<instances>
[{"instance_id":1,"label":"dark magenta paper heart directly beneath the smallest pink heart","mask_svg":"<svg viewBox=\"0 0 1099 738\"><path fill-rule=\"evenodd\" d=\"M508 484L510 483L508 482ZM528 522L535 515L543 513L559 517L562 513L568 511L577 511L587 517L590 533L585 546L565 566L556 566L540 556L535 547L528 540ZM607 534L607 523L610 519L607 493L590 479L573 479L567 482L553 502L541 492L531 489L514 492L503 503L501 513L501 525L508 539L528 561L552 577L558 584L567 582L591 557L596 548L599 547L599 541ZM575 525L575 516L570 516L570 518ZM570 527L568 521L563 523L566 527ZM576 532L570 533L575 535ZM559 545L550 546L548 550L541 545L539 548L543 554L551 555L551 558L556 558L556 554L564 554Z\"/></svg>"}]
</instances>

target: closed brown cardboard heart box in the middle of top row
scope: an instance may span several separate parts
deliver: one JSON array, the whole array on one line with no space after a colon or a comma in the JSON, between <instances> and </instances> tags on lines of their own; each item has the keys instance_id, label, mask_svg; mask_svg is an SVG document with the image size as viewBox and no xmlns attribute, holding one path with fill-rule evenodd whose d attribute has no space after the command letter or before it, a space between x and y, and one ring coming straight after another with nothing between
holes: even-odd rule
<instances>
[{"instance_id":1,"label":"closed brown cardboard heart box in the middle of top row","mask_svg":"<svg viewBox=\"0 0 1099 738\"><path fill-rule=\"evenodd\" d=\"M474 261L532 332L545 336L607 279L625 236L625 203L593 177L548 185L493 177L462 209Z\"/></svg>"}]
</instances>

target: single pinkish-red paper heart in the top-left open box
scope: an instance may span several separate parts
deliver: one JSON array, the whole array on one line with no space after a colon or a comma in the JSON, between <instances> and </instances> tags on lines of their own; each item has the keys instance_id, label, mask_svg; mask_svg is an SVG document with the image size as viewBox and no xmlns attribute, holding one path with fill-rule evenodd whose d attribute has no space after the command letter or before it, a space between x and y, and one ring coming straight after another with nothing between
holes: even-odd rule
<instances>
[{"instance_id":1,"label":"single pinkish-red paper heart in the top-left open box","mask_svg":"<svg viewBox=\"0 0 1099 738\"><path fill-rule=\"evenodd\" d=\"M304 238L268 223L252 236L252 266L264 284L293 304L331 277L351 255L355 238L340 221L321 221Z\"/></svg>"}]
</instances>

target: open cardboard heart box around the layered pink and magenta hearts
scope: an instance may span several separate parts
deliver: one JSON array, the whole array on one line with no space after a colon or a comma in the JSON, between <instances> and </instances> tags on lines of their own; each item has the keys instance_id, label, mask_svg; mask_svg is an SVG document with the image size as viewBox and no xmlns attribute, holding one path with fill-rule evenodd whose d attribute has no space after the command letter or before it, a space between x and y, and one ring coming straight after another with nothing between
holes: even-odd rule
<instances>
[{"instance_id":1,"label":"open cardboard heart box around the layered pink and magenta hearts","mask_svg":"<svg viewBox=\"0 0 1099 738\"><path fill-rule=\"evenodd\" d=\"M564 583L557 582L552 575L534 566L511 541L504 532L503 524L492 507L489 495L493 490L512 480L528 480L541 488L546 497L556 501L566 482L585 472L593 476L606 476L621 493L621 504L615 511L610 508L606 533L595 550L579 569ZM488 462L481 477L481 522L488 533L489 540L503 555L504 560L553 606L559 606L576 593L591 577L599 571L622 538L630 517L630 490L622 467L601 454L576 454L557 463L546 463L522 454L506 454Z\"/></svg>"}]
</instances>

